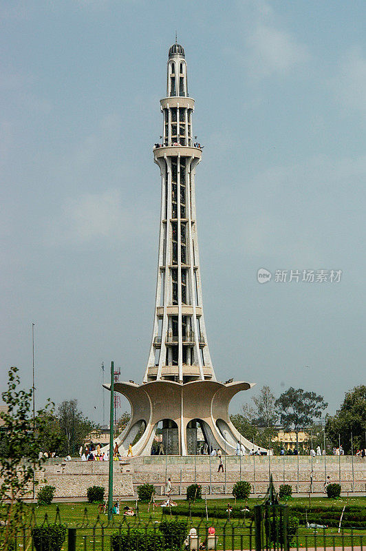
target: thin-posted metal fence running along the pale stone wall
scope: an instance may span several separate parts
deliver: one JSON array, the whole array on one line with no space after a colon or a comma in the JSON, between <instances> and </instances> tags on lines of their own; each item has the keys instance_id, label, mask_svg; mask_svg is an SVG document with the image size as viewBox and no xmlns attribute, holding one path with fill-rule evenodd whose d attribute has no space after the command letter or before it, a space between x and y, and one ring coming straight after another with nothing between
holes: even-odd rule
<instances>
[{"instance_id":1,"label":"thin-posted metal fence running along the pale stone wall","mask_svg":"<svg viewBox=\"0 0 366 551\"><path fill-rule=\"evenodd\" d=\"M204 491L211 495L230 493L236 481L245 480L250 482L252 493L257 494L266 491L272 475L277 485L291 484L293 492L323 492L325 482L329 481L327 477L341 484L343 492L366 492L366 458L363 457L224 455L222 473L217 472L217 457L197 454L186 456L180 462L179 459L166 454L164 464L149 463L149 468L154 466L150 470L143 464L134 464L134 486L144 482L162 486L170 477L175 495L184 494L184 487L193 483L202 484ZM222 491L215 490L217 485L224 487Z\"/></svg>"}]
</instances>

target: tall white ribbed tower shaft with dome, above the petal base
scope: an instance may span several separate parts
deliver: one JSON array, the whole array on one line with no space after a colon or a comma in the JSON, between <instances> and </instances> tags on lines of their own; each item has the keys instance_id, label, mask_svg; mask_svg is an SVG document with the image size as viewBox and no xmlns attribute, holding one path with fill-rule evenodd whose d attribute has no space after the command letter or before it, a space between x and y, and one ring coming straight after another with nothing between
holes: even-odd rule
<instances>
[{"instance_id":1,"label":"tall white ribbed tower shaft with dome, above the petal base","mask_svg":"<svg viewBox=\"0 0 366 551\"><path fill-rule=\"evenodd\" d=\"M160 100L163 141L153 155L160 167L162 200L153 337L144 382L181 384L216 380L202 305L195 209L195 167L202 149L193 143L184 49L169 49L166 98Z\"/></svg>"}]
</instances>

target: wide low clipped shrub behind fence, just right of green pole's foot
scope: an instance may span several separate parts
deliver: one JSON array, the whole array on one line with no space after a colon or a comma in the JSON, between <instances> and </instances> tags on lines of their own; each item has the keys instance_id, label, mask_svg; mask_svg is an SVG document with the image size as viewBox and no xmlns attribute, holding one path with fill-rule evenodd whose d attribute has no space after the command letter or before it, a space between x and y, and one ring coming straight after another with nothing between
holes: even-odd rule
<instances>
[{"instance_id":1,"label":"wide low clipped shrub behind fence, just right of green pole's foot","mask_svg":"<svg viewBox=\"0 0 366 551\"><path fill-rule=\"evenodd\" d=\"M111 538L112 551L163 551L164 536L153 528L131 528L115 532Z\"/></svg>"}]
</instances>

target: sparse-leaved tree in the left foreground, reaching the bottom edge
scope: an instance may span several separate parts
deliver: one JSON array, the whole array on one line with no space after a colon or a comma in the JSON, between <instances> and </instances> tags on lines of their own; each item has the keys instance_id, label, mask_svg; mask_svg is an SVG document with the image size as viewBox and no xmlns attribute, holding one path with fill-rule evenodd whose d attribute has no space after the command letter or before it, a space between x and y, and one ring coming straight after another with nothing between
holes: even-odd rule
<instances>
[{"instance_id":1,"label":"sparse-leaved tree in the left foreground, reaching the bottom edge","mask_svg":"<svg viewBox=\"0 0 366 551\"><path fill-rule=\"evenodd\" d=\"M51 402L37 411L35 424L32 418L32 389L19 390L20 379L17 367L8 371L8 390L2 393L6 411L0 413L3 419L2 439L6 446L1 446L0 453L0 498L8 501L6 528L1 534L0 549L8 550L14 533L23 515L23 498L38 484L35 479L37 470L41 470L43 457L39 457L42 441L47 430L47 416L52 415ZM50 446L57 445L57 437L49 435ZM26 459L25 459L26 457Z\"/></svg>"}]
</instances>

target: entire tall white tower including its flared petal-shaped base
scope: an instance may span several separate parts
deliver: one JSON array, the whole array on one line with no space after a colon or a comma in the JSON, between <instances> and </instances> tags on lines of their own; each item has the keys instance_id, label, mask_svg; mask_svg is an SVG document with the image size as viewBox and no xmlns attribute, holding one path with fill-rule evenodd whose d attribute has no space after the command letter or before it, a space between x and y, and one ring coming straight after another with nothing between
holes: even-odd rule
<instances>
[{"instance_id":1,"label":"entire tall white tower including its flared petal-shaped base","mask_svg":"<svg viewBox=\"0 0 366 551\"><path fill-rule=\"evenodd\" d=\"M246 453L253 447L228 416L230 399L253 385L218 382L208 350L195 208L195 169L202 148L193 143L194 105L184 49L175 43L169 50L166 98L160 100L163 140L153 149L162 183L153 337L142 384L114 385L131 404L131 420L117 439L121 455L127 455L142 429L133 455L150 455L159 423L169 455L196 453L198 426L208 449L233 455L237 441Z\"/></svg>"}]
</instances>

